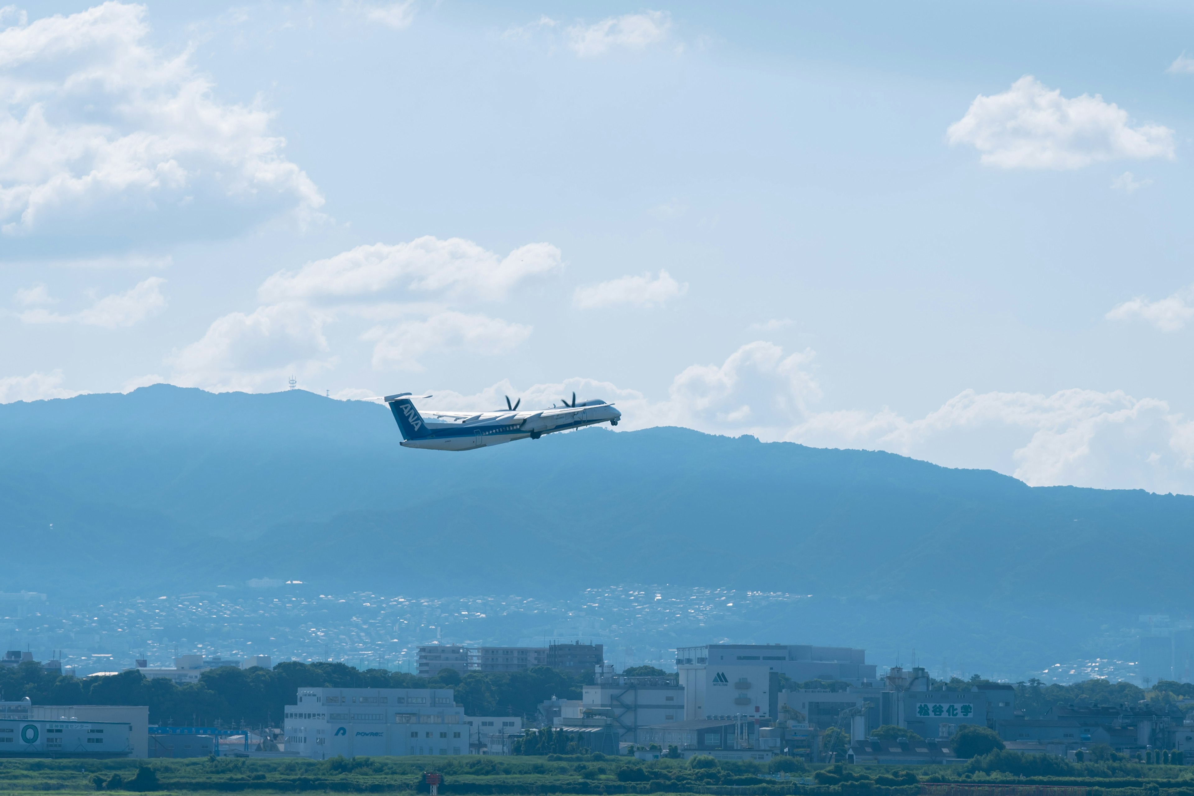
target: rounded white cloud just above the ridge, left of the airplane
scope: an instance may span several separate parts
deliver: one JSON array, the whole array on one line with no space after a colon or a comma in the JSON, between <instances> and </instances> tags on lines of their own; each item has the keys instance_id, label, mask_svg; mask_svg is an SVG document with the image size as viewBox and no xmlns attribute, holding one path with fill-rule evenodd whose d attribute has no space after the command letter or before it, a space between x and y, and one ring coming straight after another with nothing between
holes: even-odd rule
<instances>
[{"instance_id":1,"label":"rounded white cloud just above the ridge, left of the airplane","mask_svg":"<svg viewBox=\"0 0 1194 796\"><path fill-rule=\"evenodd\" d=\"M336 364L324 325L328 316L301 304L229 313L167 358L171 382L214 391L281 389L294 375L312 378Z\"/></svg>"}]
</instances>

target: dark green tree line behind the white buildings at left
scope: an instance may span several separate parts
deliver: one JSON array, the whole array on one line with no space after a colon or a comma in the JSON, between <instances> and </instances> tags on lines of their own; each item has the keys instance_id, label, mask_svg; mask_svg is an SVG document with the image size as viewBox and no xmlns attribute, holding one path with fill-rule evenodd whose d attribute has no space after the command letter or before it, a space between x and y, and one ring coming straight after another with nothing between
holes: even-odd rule
<instances>
[{"instance_id":1,"label":"dark green tree line behind the white buildings at left","mask_svg":"<svg viewBox=\"0 0 1194 796\"><path fill-rule=\"evenodd\" d=\"M198 683L147 679L136 669L75 678L43 669L35 661L0 668L0 699L29 697L42 705L148 705L153 724L197 727L281 727L284 706L298 689L453 689L469 716L534 717L544 699L579 699L583 681L536 666L521 672L443 669L432 678L345 664L282 662L272 669L232 666L207 669Z\"/></svg>"}]
</instances>

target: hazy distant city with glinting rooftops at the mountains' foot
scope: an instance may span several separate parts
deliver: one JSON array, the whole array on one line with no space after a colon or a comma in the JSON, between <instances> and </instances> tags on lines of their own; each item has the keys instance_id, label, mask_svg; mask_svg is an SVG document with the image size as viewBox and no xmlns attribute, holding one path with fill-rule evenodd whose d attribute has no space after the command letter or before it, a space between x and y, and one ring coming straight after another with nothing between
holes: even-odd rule
<instances>
[{"instance_id":1,"label":"hazy distant city with glinting rooftops at the mountains' foot","mask_svg":"<svg viewBox=\"0 0 1194 796\"><path fill-rule=\"evenodd\" d=\"M31 650L37 660L60 660L80 674L122 671L137 660L171 666L185 654L332 660L416 673L418 648L429 643L542 649L552 641L578 640L603 644L605 660L618 669L672 669L676 649L701 638L769 641L776 633L774 619L787 617L792 627L792 612L807 600L782 592L669 586L592 588L572 600L321 594L304 584L264 579L236 590L109 599L90 606L21 592L0 593L0 644ZM1108 678L1147 685L1194 675L1194 623L1187 619L1140 616L1134 627L1108 629L1087 647L1089 656L1045 661L1035 671L1001 671L997 664L980 661L950 666L948 660L929 668L942 679L980 671L992 679L1036 677L1046 683ZM887 666L917 662L910 649L878 654Z\"/></svg>"}]
</instances>

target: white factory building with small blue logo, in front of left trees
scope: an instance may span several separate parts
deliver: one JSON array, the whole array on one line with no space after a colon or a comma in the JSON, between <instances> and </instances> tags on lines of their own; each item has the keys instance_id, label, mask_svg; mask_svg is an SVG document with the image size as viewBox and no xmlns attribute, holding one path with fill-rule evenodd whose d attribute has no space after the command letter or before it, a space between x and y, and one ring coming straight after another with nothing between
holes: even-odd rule
<instances>
[{"instance_id":1,"label":"white factory building with small blue logo, in front of left trees","mask_svg":"<svg viewBox=\"0 0 1194 796\"><path fill-rule=\"evenodd\" d=\"M287 752L468 754L469 726L450 689L300 689L283 720Z\"/></svg>"}]
</instances>

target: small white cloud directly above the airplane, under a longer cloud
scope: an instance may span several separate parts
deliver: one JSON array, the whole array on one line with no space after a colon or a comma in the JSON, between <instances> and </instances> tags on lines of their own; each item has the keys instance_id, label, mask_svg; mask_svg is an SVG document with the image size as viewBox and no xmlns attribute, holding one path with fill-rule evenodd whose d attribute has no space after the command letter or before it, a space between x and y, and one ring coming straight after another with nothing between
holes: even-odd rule
<instances>
[{"instance_id":1,"label":"small white cloud directly above the airplane, under a longer cloud","mask_svg":"<svg viewBox=\"0 0 1194 796\"><path fill-rule=\"evenodd\" d=\"M362 339L374 344L375 369L420 371L424 366L418 358L425 353L503 353L525 341L530 333L531 327L499 317L445 310L390 328L374 327Z\"/></svg>"}]
</instances>

